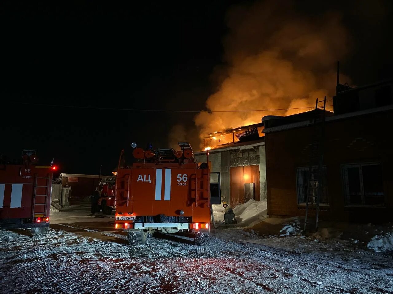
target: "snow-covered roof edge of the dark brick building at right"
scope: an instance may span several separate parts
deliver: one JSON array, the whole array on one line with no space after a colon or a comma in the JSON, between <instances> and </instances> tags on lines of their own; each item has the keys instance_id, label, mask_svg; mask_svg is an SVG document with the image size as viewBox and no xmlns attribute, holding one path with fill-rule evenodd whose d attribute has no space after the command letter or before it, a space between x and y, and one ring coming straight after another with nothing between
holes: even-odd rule
<instances>
[{"instance_id":1,"label":"snow-covered roof edge of the dark brick building at right","mask_svg":"<svg viewBox=\"0 0 393 294\"><path fill-rule=\"evenodd\" d=\"M333 115L333 116L327 117L325 119L325 122L332 122L332 121L342 120L342 119L350 118L350 117L354 117L354 116L361 116L361 115L365 115L365 114L389 111L389 110L392 110L392 109L393 109L393 105L386 105L386 106L383 106L383 107L377 107L377 108L365 109L365 110L361 110L361 111L354 111L354 112L351 112L351 113L344 113L344 114L339 114L339 115ZM271 119L270 117L271 116L264 116L262 118L262 120L264 120L265 118ZM280 118L280 116L276 117L276 119L277 118ZM284 118L284 120L283 120L284 122L288 121L288 120L285 120L285 116L281 116L281 118ZM270 132L279 132L279 131L284 131L284 130L289 130L289 129L295 129L295 128L298 128L298 127L307 127L309 124L312 124L312 122L310 122L310 120L303 120L301 122L286 123L286 124L277 125L275 127L269 127L269 128L265 127L265 129L262 132L264 132L265 134L266 133L270 133Z\"/></svg>"}]
</instances>

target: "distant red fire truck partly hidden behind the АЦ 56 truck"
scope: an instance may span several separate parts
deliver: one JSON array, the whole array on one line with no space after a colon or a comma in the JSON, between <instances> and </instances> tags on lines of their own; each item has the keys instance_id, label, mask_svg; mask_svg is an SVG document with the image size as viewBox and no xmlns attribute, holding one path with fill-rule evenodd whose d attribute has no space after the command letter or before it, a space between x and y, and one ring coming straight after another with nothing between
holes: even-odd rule
<instances>
[{"instance_id":1,"label":"distant red fire truck partly hidden behind the \u0410\u0426 56 truck","mask_svg":"<svg viewBox=\"0 0 393 294\"><path fill-rule=\"evenodd\" d=\"M102 209L103 214L112 214L115 208L116 176L101 179L97 188L98 197L92 201L92 213Z\"/></svg>"}]
</instances>

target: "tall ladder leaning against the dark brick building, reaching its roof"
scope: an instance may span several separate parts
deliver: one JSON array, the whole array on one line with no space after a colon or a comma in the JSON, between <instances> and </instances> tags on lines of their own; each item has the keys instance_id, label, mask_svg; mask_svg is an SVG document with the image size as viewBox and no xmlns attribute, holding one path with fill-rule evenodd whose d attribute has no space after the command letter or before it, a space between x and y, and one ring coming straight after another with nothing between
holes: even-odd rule
<instances>
[{"instance_id":1,"label":"tall ladder leaning against the dark brick building, reaching its roof","mask_svg":"<svg viewBox=\"0 0 393 294\"><path fill-rule=\"evenodd\" d=\"M304 229L307 229L307 225L314 225L314 229L318 229L318 217L319 207L322 192L322 168L323 168L323 141L325 133L325 107L326 107L326 96L323 100L315 103L315 117L313 119L312 126L312 140L310 150L310 166L308 172L308 183L307 183L307 195L306 195L306 214L304 220ZM320 111L323 110L323 111ZM315 204L315 206L314 206ZM313 210L310 209L310 207ZM315 210L314 210L315 207ZM314 220L310 220L310 212L315 212Z\"/></svg>"}]
</instances>

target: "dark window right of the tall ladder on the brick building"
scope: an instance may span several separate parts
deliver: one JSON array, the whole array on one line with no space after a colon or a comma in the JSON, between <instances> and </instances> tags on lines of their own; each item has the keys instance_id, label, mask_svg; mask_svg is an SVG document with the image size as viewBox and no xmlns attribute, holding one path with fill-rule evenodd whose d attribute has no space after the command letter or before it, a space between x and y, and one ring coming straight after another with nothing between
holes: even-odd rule
<instances>
[{"instance_id":1,"label":"dark window right of the tall ladder on the brick building","mask_svg":"<svg viewBox=\"0 0 393 294\"><path fill-rule=\"evenodd\" d=\"M342 165L342 178L348 205L385 206L380 163Z\"/></svg>"}]
</instances>

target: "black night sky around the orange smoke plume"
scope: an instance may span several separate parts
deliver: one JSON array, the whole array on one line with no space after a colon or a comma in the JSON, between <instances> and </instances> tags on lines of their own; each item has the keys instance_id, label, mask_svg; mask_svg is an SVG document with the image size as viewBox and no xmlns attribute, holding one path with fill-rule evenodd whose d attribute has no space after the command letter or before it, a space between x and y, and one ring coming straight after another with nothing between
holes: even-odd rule
<instances>
[{"instance_id":1,"label":"black night sky around the orange smoke plume","mask_svg":"<svg viewBox=\"0 0 393 294\"><path fill-rule=\"evenodd\" d=\"M131 142L167 147L172 125L195 131L189 113L39 104L204 109L217 86L211 74L222 63L226 11L237 2L2 1L0 152L18 158L36 149L40 163L54 157L60 172L97 174L102 164L108 174ZM380 7L369 16L354 3L298 9L342 10L356 48L343 71L357 84L386 78L391 17L378 18Z\"/></svg>"}]
</instances>

